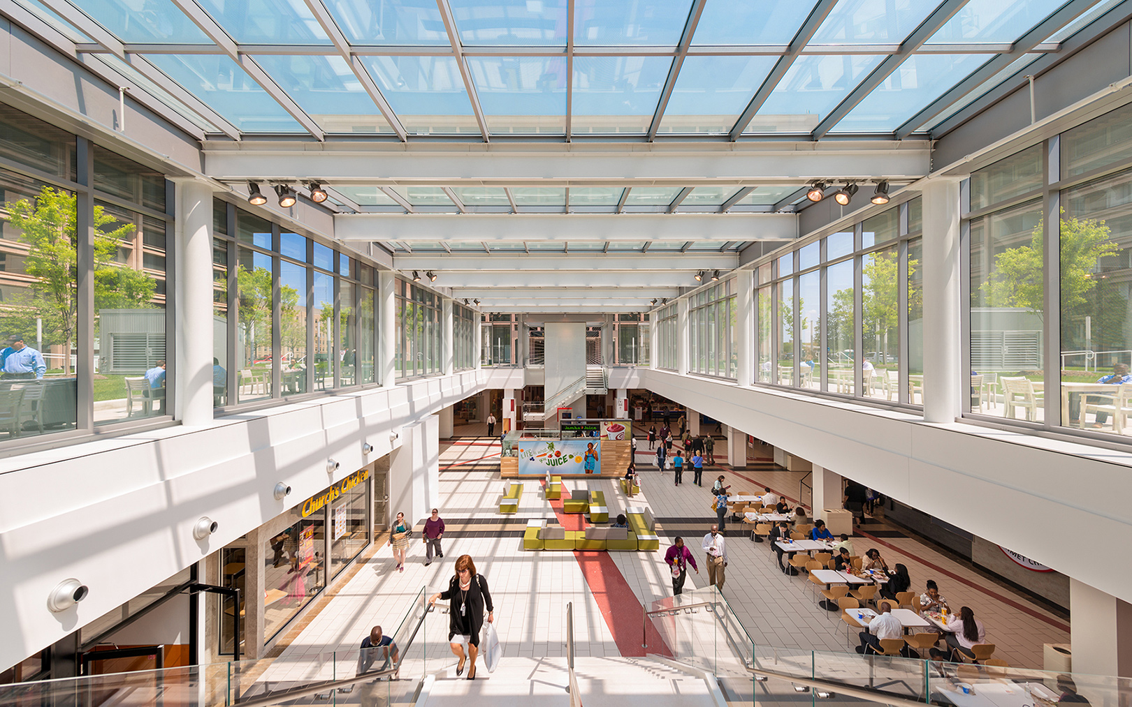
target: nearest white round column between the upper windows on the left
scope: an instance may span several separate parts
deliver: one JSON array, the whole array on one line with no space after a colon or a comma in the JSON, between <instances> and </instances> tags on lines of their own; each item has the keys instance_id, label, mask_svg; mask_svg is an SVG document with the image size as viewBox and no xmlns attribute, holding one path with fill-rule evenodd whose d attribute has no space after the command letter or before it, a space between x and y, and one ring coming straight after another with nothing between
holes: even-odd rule
<instances>
[{"instance_id":1,"label":"nearest white round column between the upper windows on the left","mask_svg":"<svg viewBox=\"0 0 1132 707\"><path fill-rule=\"evenodd\" d=\"M213 190L177 181L174 288L177 360L173 415L187 426L213 420ZM232 362L229 362L229 369Z\"/></svg>"}]
</instances>

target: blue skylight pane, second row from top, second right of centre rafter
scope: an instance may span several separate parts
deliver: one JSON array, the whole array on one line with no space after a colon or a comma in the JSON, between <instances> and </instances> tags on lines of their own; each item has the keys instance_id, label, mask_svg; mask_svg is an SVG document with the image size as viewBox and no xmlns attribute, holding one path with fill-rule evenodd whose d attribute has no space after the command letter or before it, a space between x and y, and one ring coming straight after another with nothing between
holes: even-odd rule
<instances>
[{"instance_id":1,"label":"blue skylight pane, second row from top, second right of centre rafter","mask_svg":"<svg viewBox=\"0 0 1132 707\"><path fill-rule=\"evenodd\" d=\"M778 57L687 57L660 132L729 131Z\"/></svg>"}]
</instances>

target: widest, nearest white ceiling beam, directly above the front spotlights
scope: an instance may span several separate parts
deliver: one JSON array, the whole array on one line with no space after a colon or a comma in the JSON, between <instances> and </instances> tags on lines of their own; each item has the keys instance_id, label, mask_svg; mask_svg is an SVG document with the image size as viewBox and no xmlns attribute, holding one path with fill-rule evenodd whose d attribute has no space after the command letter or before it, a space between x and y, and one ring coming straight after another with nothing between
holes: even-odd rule
<instances>
[{"instance_id":1,"label":"widest, nearest white ceiling beam, directly above the front spotlights","mask_svg":"<svg viewBox=\"0 0 1132 707\"><path fill-rule=\"evenodd\" d=\"M334 184L567 187L804 186L814 179L908 182L931 170L927 140L795 143L572 143L461 146L335 141L312 150L294 141L205 145L206 171L221 181L320 179ZM549 179L548 175L554 175ZM626 182L629 182L628 184Z\"/></svg>"}]
</instances>

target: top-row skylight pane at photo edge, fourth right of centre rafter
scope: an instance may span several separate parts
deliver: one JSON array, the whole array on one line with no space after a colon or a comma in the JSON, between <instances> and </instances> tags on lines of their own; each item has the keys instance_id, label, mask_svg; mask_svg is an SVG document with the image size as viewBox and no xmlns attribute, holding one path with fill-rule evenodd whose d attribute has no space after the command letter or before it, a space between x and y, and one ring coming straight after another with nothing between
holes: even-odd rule
<instances>
[{"instance_id":1,"label":"top-row skylight pane at photo edge, fourth right of centre rafter","mask_svg":"<svg viewBox=\"0 0 1132 707\"><path fill-rule=\"evenodd\" d=\"M1064 3L1065 0L970 0L927 43L1010 44Z\"/></svg>"}]
</instances>

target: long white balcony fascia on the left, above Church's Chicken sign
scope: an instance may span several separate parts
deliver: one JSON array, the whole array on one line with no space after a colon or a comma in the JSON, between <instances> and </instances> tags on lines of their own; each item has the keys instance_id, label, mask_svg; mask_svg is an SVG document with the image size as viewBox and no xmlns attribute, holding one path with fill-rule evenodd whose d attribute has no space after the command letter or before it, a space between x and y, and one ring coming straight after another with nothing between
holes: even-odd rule
<instances>
[{"instance_id":1,"label":"long white balcony fascia on the left, above Church's Chicken sign","mask_svg":"<svg viewBox=\"0 0 1132 707\"><path fill-rule=\"evenodd\" d=\"M389 433L483 389L484 373L415 380L317 402L231 415L208 428L171 426L0 459L0 667L137 596L369 462ZM374 451L363 456L368 441ZM328 474L326 463L341 463ZM423 469L423 466L414 466ZM435 462L432 467L435 468ZM7 472L7 473L5 473ZM282 501L276 482L292 488ZM415 509L432 501L424 483ZM192 537L201 516L220 524ZM75 577L89 596L59 614L48 594Z\"/></svg>"}]
</instances>

